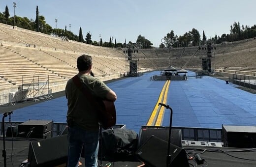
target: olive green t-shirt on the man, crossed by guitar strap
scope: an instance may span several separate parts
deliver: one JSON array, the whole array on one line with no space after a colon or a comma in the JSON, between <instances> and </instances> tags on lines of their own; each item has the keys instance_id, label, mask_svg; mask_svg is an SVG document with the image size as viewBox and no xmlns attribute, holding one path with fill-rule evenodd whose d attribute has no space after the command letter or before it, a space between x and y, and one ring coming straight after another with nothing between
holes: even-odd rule
<instances>
[{"instance_id":1,"label":"olive green t-shirt on the man, crossed by guitar strap","mask_svg":"<svg viewBox=\"0 0 256 167\"><path fill-rule=\"evenodd\" d=\"M78 75L83 86L87 86L91 93L101 99L105 99L110 88L99 79L90 75ZM68 80L65 87L67 98L67 119L73 120L75 125L85 130L96 131L99 128L98 116L95 107L85 97L72 79Z\"/></svg>"}]
</instances>

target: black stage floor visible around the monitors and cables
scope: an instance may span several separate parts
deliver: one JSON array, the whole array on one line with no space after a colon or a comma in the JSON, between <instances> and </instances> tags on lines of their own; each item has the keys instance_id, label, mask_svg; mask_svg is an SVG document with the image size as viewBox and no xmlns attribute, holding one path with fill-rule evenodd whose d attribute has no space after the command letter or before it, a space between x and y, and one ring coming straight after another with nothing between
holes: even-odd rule
<instances>
[{"instance_id":1,"label":"black stage floor visible around the monitors and cables","mask_svg":"<svg viewBox=\"0 0 256 167\"><path fill-rule=\"evenodd\" d=\"M12 138L6 138L6 157L7 157L7 167L19 167L21 163L28 158L29 152L29 144L31 141L35 141L38 139L24 139L24 138L15 138L12 145ZM2 143L2 138L0 138L0 142ZM158 143L156 143L157 145ZM11 157L11 150L13 148L12 157ZM194 153L200 153L205 149L212 149L212 150L222 150L222 152L209 152L205 151L203 154L199 154L201 158L205 160L204 165L207 167L256 167L256 149L251 149L253 151L245 151L249 150L250 148L228 148L228 147L195 147L195 146L184 146L183 147L187 152L191 151ZM0 149L2 149L2 144L0 144ZM254 159L252 160L245 160L245 159L238 159L231 156L228 156L224 153L224 151L240 151L240 152L231 152L228 153L232 156L245 158L245 159ZM192 154L189 154L193 156ZM82 164L84 164L84 159L81 159ZM102 164L105 165L108 162L103 162ZM189 161L189 163L195 166L195 162L193 160ZM98 161L99 164L99 161ZM138 160L134 162L114 162L110 167L138 167L143 163L139 162ZM0 167L3 167L3 158L0 158ZM114 166L113 166L114 165ZM198 167L200 167L199 165ZM84 167L84 165L79 166Z\"/></svg>"}]
</instances>

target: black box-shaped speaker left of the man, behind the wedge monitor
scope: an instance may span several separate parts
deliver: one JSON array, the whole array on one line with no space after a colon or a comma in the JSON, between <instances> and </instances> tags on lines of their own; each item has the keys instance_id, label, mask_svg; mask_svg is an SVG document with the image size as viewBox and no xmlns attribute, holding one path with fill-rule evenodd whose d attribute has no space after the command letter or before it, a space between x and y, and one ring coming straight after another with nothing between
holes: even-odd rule
<instances>
[{"instance_id":1,"label":"black box-shaped speaker left of the man, behind the wedge monitor","mask_svg":"<svg viewBox=\"0 0 256 167\"><path fill-rule=\"evenodd\" d=\"M18 125L18 137L46 139L52 137L52 130L52 120L28 120Z\"/></svg>"}]
</instances>

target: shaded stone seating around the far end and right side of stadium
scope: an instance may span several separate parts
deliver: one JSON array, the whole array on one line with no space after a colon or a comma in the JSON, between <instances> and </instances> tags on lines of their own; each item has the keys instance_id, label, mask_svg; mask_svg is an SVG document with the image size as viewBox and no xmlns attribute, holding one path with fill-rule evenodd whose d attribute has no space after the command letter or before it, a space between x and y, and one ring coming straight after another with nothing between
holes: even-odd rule
<instances>
[{"instance_id":1,"label":"shaded stone seating around the far end and right side of stadium","mask_svg":"<svg viewBox=\"0 0 256 167\"><path fill-rule=\"evenodd\" d=\"M215 45L213 50L214 66L216 69L229 68L244 71L256 71L256 40L254 38L243 41ZM170 64L176 68L201 68L200 57L207 56L206 49L198 47L164 49L142 49L138 54L140 66L143 68L165 68ZM196 54L195 54L196 53ZM192 56L194 55L194 56Z\"/></svg>"}]
</instances>

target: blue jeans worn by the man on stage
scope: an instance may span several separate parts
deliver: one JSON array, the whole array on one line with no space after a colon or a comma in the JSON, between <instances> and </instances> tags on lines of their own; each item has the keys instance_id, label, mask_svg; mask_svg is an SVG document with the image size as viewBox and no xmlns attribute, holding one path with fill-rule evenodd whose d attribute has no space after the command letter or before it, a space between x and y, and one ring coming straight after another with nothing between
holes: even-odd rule
<instances>
[{"instance_id":1,"label":"blue jeans worn by the man on stage","mask_svg":"<svg viewBox=\"0 0 256 167\"><path fill-rule=\"evenodd\" d=\"M78 166L82 151L84 151L85 166L97 167L98 140L98 131L86 131L77 126L68 127L67 167Z\"/></svg>"}]
</instances>

